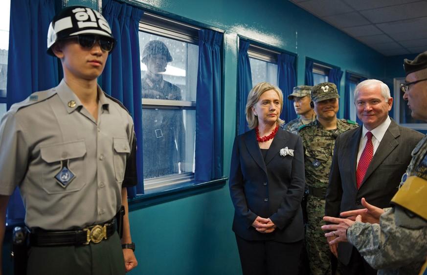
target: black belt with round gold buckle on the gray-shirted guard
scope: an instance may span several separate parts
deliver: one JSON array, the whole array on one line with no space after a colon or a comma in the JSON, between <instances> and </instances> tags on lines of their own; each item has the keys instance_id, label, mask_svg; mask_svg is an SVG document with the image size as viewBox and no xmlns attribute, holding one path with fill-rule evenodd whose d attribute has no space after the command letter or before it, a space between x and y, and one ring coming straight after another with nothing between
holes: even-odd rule
<instances>
[{"instance_id":1,"label":"black belt with round gold buckle on the gray-shirted guard","mask_svg":"<svg viewBox=\"0 0 427 275\"><path fill-rule=\"evenodd\" d=\"M30 246L64 246L99 243L116 231L115 218L105 224L92 225L75 231L47 231L34 229L30 233Z\"/></svg>"}]
</instances>

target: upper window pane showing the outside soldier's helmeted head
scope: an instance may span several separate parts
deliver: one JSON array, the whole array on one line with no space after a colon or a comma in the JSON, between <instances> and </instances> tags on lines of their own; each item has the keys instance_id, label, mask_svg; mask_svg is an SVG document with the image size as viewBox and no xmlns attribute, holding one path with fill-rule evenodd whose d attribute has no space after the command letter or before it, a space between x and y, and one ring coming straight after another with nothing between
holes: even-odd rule
<instances>
[{"instance_id":1,"label":"upper window pane showing the outside soldier's helmeted head","mask_svg":"<svg viewBox=\"0 0 427 275\"><path fill-rule=\"evenodd\" d=\"M139 45L143 98L196 101L198 45L144 32Z\"/></svg>"}]
</instances>

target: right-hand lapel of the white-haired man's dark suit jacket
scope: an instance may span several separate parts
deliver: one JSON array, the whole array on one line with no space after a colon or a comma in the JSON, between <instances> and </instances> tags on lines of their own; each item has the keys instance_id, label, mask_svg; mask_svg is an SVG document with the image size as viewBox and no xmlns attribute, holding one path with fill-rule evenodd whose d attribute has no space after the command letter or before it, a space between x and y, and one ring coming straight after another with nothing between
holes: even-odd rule
<instances>
[{"instance_id":1,"label":"right-hand lapel of the white-haired man's dark suit jacket","mask_svg":"<svg viewBox=\"0 0 427 275\"><path fill-rule=\"evenodd\" d=\"M394 122L391 121L390 126L385 131L384 136L382 137L381 143L377 148L374 156L372 157L371 163L369 163L368 169L366 170L365 177L363 178L362 185L366 179L377 169L385 158L399 145L399 142L396 138L400 136L399 127Z\"/></svg>"}]
</instances>

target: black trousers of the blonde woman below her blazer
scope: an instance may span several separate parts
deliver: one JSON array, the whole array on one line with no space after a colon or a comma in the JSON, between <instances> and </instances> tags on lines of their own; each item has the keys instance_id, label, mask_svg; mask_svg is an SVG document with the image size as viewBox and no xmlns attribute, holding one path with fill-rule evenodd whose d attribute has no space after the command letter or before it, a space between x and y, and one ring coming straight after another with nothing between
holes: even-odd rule
<instances>
[{"instance_id":1,"label":"black trousers of the blonde woman below her blazer","mask_svg":"<svg viewBox=\"0 0 427 275\"><path fill-rule=\"evenodd\" d=\"M249 241L236 235L243 275L296 275L302 240Z\"/></svg>"}]
</instances>

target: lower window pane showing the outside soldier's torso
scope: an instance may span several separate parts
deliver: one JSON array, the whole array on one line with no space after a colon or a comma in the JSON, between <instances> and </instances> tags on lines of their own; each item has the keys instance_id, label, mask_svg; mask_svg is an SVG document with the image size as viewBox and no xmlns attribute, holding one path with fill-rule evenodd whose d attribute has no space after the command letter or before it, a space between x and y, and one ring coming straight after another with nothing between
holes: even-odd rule
<instances>
[{"instance_id":1,"label":"lower window pane showing the outside soldier's torso","mask_svg":"<svg viewBox=\"0 0 427 275\"><path fill-rule=\"evenodd\" d=\"M144 180L194 172L196 110L142 109Z\"/></svg>"}]
</instances>

